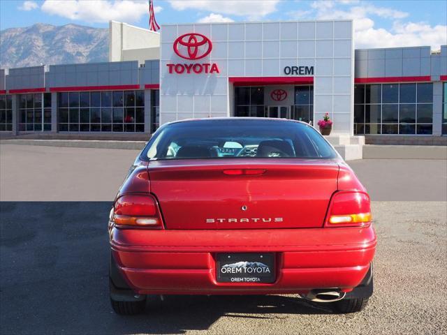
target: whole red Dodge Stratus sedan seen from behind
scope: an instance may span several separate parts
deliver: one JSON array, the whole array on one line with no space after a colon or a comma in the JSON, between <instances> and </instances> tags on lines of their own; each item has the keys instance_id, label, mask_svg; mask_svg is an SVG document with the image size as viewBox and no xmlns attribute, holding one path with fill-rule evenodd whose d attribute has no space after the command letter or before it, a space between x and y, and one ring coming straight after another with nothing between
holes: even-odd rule
<instances>
[{"instance_id":1,"label":"whole red Dodge Stratus sedan seen from behind","mask_svg":"<svg viewBox=\"0 0 447 335\"><path fill-rule=\"evenodd\" d=\"M225 118L161 126L109 222L115 312L146 295L299 294L339 313L372 295L369 196L308 124Z\"/></svg>"}]
</instances>

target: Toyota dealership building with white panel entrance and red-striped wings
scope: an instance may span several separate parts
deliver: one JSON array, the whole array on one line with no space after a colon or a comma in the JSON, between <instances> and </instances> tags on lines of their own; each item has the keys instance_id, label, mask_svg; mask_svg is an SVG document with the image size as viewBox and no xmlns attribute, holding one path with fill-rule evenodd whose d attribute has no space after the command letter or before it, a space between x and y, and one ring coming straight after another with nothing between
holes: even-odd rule
<instances>
[{"instance_id":1,"label":"Toyota dealership building with white panel entrance and red-striped wings","mask_svg":"<svg viewBox=\"0 0 447 335\"><path fill-rule=\"evenodd\" d=\"M105 63L1 69L1 136L135 138L179 119L329 113L340 151L446 143L447 45L355 50L351 20L160 33L110 22L109 38Z\"/></svg>"}]
</instances>

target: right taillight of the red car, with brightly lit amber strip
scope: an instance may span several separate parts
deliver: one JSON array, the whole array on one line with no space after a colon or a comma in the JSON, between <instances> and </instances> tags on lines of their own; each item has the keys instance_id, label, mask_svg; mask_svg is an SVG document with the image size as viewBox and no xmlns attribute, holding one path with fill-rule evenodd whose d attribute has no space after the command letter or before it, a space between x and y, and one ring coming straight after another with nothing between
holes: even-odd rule
<instances>
[{"instance_id":1,"label":"right taillight of the red car, with brightly lit amber strip","mask_svg":"<svg viewBox=\"0 0 447 335\"><path fill-rule=\"evenodd\" d=\"M363 227L369 225L371 220L367 193L341 191L332 196L325 227Z\"/></svg>"}]
</instances>

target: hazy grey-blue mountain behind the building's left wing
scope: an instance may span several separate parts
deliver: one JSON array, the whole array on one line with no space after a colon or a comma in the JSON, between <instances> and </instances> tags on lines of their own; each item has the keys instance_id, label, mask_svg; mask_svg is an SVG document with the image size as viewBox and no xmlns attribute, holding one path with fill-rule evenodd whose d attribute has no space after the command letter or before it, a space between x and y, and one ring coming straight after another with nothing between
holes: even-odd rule
<instances>
[{"instance_id":1,"label":"hazy grey-blue mountain behind the building's left wing","mask_svg":"<svg viewBox=\"0 0 447 335\"><path fill-rule=\"evenodd\" d=\"M108 29L34 24L0 31L0 68L108 60Z\"/></svg>"}]
</instances>

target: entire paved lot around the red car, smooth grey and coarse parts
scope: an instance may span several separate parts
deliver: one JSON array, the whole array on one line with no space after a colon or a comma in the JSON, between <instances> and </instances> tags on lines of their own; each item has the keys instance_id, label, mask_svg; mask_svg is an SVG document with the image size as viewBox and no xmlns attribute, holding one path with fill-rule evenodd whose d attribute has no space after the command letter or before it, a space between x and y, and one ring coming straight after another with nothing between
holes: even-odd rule
<instances>
[{"instance_id":1,"label":"entire paved lot around the red car, smooth grey and coarse parts","mask_svg":"<svg viewBox=\"0 0 447 335\"><path fill-rule=\"evenodd\" d=\"M379 237L361 313L271 295L166 297L115 315L106 218L136 154L0 146L1 334L446 334L446 161L351 162Z\"/></svg>"}]
</instances>

